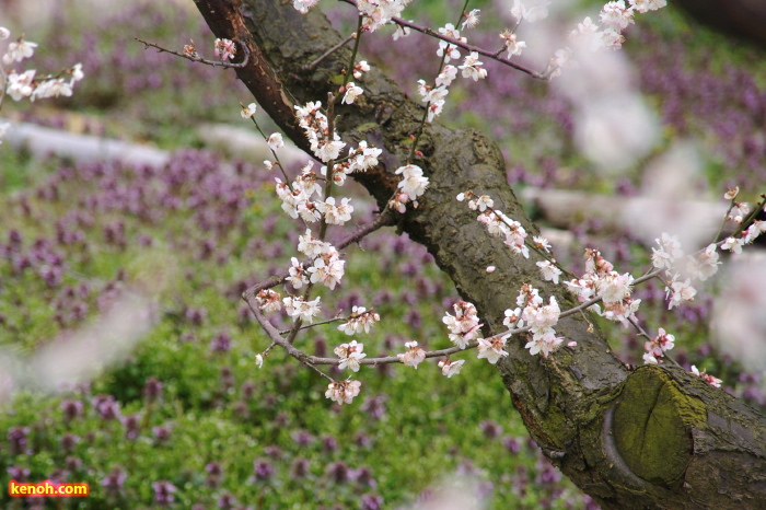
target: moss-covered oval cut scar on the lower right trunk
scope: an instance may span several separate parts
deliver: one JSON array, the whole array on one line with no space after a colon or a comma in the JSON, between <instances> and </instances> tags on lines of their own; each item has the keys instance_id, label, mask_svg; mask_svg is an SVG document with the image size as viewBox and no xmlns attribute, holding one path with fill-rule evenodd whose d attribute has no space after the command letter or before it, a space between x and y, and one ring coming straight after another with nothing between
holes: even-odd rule
<instances>
[{"instance_id":1,"label":"moss-covered oval cut scar on the lower right trunk","mask_svg":"<svg viewBox=\"0 0 766 510\"><path fill-rule=\"evenodd\" d=\"M614 414L617 450L630 470L657 485L681 484L694 448L689 430L705 406L664 370L642 367L625 383Z\"/></svg>"}]
</instances>

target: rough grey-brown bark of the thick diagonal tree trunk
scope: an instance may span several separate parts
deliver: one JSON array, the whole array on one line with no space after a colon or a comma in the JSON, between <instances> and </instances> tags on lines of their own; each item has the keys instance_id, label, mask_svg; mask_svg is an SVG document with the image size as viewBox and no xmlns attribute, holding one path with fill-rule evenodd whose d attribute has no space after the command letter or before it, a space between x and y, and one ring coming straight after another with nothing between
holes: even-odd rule
<instances>
[{"instance_id":1,"label":"rough grey-brown bark of the thick diagonal tree trunk","mask_svg":"<svg viewBox=\"0 0 766 510\"><path fill-rule=\"evenodd\" d=\"M251 60L237 76L305 149L292 107L326 101L350 49L341 48L314 70L304 66L341 40L340 35L320 12L301 15L288 1L196 3L218 37L247 45ZM383 164L359 178L383 205L396 187L393 171L411 147L409 135L422 111L376 70L362 84L358 104L339 108L339 129L347 141L367 139L385 149ZM536 232L506 182L495 143L471 129L433 125L419 149L423 157L416 163L431 185L421 207L405 215L402 229L433 254L461 295L476 304L486 334L503 329L503 311L514 306L522 283L556 295L562 310L576 304L560 286L539 278L534 255L511 256L487 235L476 212L455 200L466 189L488 194L496 207ZM497 270L486 273L489 265ZM604 508L764 508L762 415L682 370L629 370L580 316L562 320L556 329L577 347L543 359L529 355L525 338L512 338L510 356L498 371L532 438L579 487Z\"/></svg>"}]
</instances>

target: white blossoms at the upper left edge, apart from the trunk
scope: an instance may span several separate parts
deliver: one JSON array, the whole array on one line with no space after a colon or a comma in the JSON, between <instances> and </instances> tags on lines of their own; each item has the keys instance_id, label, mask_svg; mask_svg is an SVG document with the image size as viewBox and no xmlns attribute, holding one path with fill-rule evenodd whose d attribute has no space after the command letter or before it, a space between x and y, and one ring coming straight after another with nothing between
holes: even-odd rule
<instances>
[{"instance_id":1,"label":"white blossoms at the upper left edge, apart from the trunk","mask_svg":"<svg viewBox=\"0 0 766 510\"><path fill-rule=\"evenodd\" d=\"M11 31L0 26L0 42L11 37ZM36 77L34 69L16 71L10 69L15 62L32 58L37 47L36 43L24 40L19 37L8 44L5 53L2 55L0 63L0 105L5 94L13 101L22 101L28 97L30 101L43 100L47 97L71 96L74 83L84 78L82 63L77 63L70 69L62 70L58 76ZM68 78L66 78L68 77ZM0 143L5 135L8 124L0 124Z\"/></svg>"}]
</instances>

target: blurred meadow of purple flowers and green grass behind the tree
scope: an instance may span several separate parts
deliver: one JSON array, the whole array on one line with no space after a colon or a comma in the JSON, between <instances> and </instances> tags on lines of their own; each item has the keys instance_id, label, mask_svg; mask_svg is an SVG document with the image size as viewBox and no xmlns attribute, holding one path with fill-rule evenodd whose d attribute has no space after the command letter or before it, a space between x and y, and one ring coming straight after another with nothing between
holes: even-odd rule
<instances>
[{"instance_id":1,"label":"blurred meadow of purple flowers and green grass behind the tree","mask_svg":"<svg viewBox=\"0 0 766 510\"><path fill-rule=\"evenodd\" d=\"M404 14L438 27L456 21L462 3L419 0ZM465 35L499 47L510 7L472 2L484 14ZM545 27L522 25L520 38L541 48L522 60L544 68L600 7L562 2ZM352 8L320 8L350 32ZM252 98L233 71L134 39L178 50L193 39L212 58L213 37L190 0L5 1L0 25L39 45L25 68L56 73L81 62L85 73L70 98L7 97L0 111L12 123L0 146L0 487L91 485L90 497L69 501L12 500L3 490L1 506L441 509L446 494L456 508L596 508L543 459L496 370L472 352L456 357L468 361L449 380L430 362L363 369L360 396L343 407L278 350L256 368L268 340L239 297L289 266L301 230L282 213L262 163L268 155L240 117L239 103ZM362 40L363 57L417 97L417 80L437 71L426 58L437 43L413 34L392 44L393 31L381 32ZM739 185L743 200L765 190L763 50L673 4L637 15L625 34L620 59L580 70L590 81L571 81L577 68L548 84L486 62L487 80L459 80L441 117L498 141L509 183L574 273L591 246L638 275L663 224L684 211L720 216L728 187ZM615 103L589 103L594 95ZM260 112L257 119L270 132ZM294 172L306 158L288 148L286 159ZM355 224L371 220L363 190L346 189ZM647 196L670 208L652 218L641 208ZM627 221L613 221L613 202L587 207L615 197L638 204ZM557 208L565 199L574 206ZM690 242L715 228L700 232ZM766 276L748 260L670 313L663 286L635 295L647 328L675 335L681 364L708 369L764 409L764 367L747 360L766 359L757 356ZM379 311L381 323L358 338L365 352L393 355L413 339L449 344L441 317L457 294L421 246L379 232L350 250L346 267L340 290L320 295L327 315ZM640 362L643 340L632 329L602 326L623 360ZM298 341L326 355L347 339L325 326Z\"/></svg>"}]
</instances>

